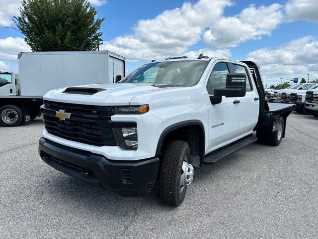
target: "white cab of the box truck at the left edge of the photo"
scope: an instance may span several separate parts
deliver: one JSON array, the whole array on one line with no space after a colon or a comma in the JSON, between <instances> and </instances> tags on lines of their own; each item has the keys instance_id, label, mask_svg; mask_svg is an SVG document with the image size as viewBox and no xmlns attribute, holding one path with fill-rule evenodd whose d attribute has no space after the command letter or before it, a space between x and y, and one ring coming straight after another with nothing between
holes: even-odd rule
<instances>
[{"instance_id":1,"label":"white cab of the box truck at the left edge of the photo","mask_svg":"<svg viewBox=\"0 0 318 239\"><path fill-rule=\"evenodd\" d=\"M13 71L0 71L0 96L19 94L19 74Z\"/></svg>"}]
</instances>

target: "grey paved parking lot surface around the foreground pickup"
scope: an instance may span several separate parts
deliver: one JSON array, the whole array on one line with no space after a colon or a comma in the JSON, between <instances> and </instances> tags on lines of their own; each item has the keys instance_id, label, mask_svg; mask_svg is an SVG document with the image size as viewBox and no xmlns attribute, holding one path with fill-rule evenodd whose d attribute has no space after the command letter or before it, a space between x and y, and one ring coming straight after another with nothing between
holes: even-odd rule
<instances>
[{"instance_id":1,"label":"grey paved parking lot surface around the foreground pickup","mask_svg":"<svg viewBox=\"0 0 318 239\"><path fill-rule=\"evenodd\" d=\"M38 156L42 119L0 127L0 238L318 238L318 118L292 113L278 147L254 143L195 170L183 204L123 198Z\"/></svg>"}]
</instances>

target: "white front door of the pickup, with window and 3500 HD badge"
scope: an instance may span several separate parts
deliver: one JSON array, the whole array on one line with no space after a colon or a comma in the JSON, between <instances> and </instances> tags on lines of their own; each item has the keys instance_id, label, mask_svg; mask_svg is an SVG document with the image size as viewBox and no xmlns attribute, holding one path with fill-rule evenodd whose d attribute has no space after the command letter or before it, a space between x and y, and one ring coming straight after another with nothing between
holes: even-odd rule
<instances>
[{"instance_id":1,"label":"white front door of the pickup, with window and 3500 HD badge","mask_svg":"<svg viewBox=\"0 0 318 239\"><path fill-rule=\"evenodd\" d=\"M222 97L220 104L212 105L210 96L215 88L225 88L229 65L226 62L217 63L207 83L207 96L209 105L209 145L212 151L220 145L239 136L240 104L237 98Z\"/></svg>"}]
</instances>

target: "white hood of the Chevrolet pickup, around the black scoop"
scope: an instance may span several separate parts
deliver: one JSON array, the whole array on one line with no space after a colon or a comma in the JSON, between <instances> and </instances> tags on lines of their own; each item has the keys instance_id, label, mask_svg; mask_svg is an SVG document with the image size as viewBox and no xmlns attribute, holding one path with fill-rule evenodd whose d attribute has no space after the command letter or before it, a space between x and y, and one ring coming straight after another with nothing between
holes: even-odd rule
<instances>
[{"instance_id":1,"label":"white hood of the Chevrolet pickup, around the black scoop","mask_svg":"<svg viewBox=\"0 0 318 239\"><path fill-rule=\"evenodd\" d=\"M79 103L84 105L129 105L132 99L137 96L146 95L158 91L171 91L176 87L159 88L152 86L152 84L135 84L135 83L104 83L94 85L77 86L84 88L99 88L103 89L93 95L63 93L67 88L61 88L49 91L43 97L48 101L60 101L68 103ZM178 87L181 88L181 87ZM183 88L183 87L182 87Z\"/></svg>"}]
</instances>

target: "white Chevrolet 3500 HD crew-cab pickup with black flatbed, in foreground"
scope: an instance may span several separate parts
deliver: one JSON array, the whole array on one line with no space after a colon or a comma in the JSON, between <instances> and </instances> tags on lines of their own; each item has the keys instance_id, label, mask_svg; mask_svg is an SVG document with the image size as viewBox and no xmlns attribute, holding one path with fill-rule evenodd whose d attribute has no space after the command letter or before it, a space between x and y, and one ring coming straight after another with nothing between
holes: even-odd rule
<instances>
[{"instance_id":1,"label":"white Chevrolet 3500 HD crew-cab pickup with black flatbed, in foreground","mask_svg":"<svg viewBox=\"0 0 318 239\"><path fill-rule=\"evenodd\" d=\"M173 57L117 81L48 92L39 154L122 196L146 196L158 179L170 206L183 201L194 167L256 140L279 145L294 110L265 102L250 61Z\"/></svg>"}]
</instances>

